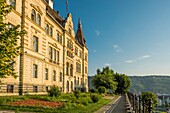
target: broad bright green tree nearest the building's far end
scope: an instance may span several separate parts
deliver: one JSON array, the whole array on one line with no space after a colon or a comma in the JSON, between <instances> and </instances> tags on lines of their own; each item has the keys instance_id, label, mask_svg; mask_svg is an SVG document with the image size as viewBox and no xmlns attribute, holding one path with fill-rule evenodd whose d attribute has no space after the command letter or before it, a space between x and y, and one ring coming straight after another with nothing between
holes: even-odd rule
<instances>
[{"instance_id":1,"label":"broad bright green tree nearest the building's far end","mask_svg":"<svg viewBox=\"0 0 170 113\"><path fill-rule=\"evenodd\" d=\"M103 68L102 71L97 69L97 74L92 79L92 84L98 89L100 86L104 86L106 89L111 89L113 92L116 90L117 82L113 76L114 71L109 67Z\"/></svg>"}]
</instances>

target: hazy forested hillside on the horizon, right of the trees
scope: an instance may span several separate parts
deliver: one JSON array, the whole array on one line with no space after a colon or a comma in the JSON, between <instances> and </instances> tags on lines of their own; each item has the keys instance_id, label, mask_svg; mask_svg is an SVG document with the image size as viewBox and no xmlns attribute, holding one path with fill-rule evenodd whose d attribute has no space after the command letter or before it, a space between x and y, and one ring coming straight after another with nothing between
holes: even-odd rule
<instances>
[{"instance_id":1,"label":"hazy forested hillside on the horizon, right of the trees","mask_svg":"<svg viewBox=\"0 0 170 113\"><path fill-rule=\"evenodd\" d=\"M170 94L170 76L129 76L130 92L152 91Z\"/></svg>"}]
</instances>

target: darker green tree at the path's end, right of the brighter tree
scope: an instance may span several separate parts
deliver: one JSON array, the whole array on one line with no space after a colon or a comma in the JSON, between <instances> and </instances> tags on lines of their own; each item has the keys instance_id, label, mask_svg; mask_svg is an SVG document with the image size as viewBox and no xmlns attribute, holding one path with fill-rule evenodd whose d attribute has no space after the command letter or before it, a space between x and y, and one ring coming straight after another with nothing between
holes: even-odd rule
<instances>
[{"instance_id":1,"label":"darker green tree at the path's end, right of the brighter tree","mask_svg":"<svg viewBox=\"0 0 170 113\"><path fill-rule=\"evenodd\" d=\"M125 74L118 74L115 73L114 77L116 79L117 84L117 89L116 89L116 93L118 94L125 94L128 92L130 86L131 86L131 82L129 80L129 77Z\"/></svg>"}]
</instances>

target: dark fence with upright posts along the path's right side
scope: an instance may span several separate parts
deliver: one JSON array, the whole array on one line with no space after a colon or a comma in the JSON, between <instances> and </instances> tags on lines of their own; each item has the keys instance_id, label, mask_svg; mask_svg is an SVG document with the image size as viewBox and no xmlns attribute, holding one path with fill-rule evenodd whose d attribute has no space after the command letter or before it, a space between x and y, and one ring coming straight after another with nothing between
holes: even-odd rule
<instances>
[{"instance_id":1,"label":"dark fence with upright posts along the path's right side","mask_svg":"<svg viewBox=\"0 0 170 113\"><path fill-rule=\"evenodd\" d=\"M134 93L128 93L128 97L135 113L154 113L151 99L146 102L140 95Z\"/></svg>"}]
</instances>

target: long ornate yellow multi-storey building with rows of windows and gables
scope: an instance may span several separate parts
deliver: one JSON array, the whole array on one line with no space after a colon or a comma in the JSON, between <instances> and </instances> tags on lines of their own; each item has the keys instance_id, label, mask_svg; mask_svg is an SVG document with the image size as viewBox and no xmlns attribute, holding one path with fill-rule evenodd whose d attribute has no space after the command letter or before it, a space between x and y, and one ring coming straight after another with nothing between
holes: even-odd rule
<instances>
[{"instance_id":1,"label":"long ornate yellow multi-storey building with rows of windows and gables","mask_svg":"<svg viewBox=\"0 0 170 113\"><path fill-rule=\"evenodd\" d=\"M17 79L2 79L0 95L47 94L56 85L64 93L88 91L88 49L78 20L74 32L72 15L63 19L53 0L7 0L14 8L6 22L20 24L27 34L18 44L21 54L14 66Z\"/></svg>"}]
</instances>

